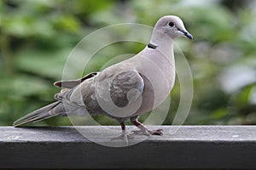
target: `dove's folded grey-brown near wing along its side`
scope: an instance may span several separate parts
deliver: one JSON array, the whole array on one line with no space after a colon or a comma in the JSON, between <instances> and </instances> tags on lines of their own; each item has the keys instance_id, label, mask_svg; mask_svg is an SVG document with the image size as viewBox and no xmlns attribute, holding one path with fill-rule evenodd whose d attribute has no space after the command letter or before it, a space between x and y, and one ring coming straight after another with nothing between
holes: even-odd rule
<instances>
[{"instance_id":1,"label":"dove's folded grey-brown near wing along its side","mask_svg":"<svg viewBox=\"0 0 256 170\"><path fill-rule=\"evenodd\" d=\"M116 73L111 69L98 73L74 88L61 90L61 93L55 94L55 99L77 108L84 107L90 113L104 114L108 111L102 107L102 103L110 109L125 107L129 102L136 101L143 88L143 78L137 71Z\"/></svg>"}]
</instances>

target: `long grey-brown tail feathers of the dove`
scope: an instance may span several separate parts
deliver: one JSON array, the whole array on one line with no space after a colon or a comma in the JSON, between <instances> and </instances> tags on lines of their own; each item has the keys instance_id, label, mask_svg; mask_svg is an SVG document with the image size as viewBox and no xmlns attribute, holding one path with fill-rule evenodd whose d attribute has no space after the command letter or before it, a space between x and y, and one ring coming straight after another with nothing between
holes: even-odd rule
<instances>
[{"instance_id":1,"label":"long grey-brown tail feathers of the dove","mask_svg":"<svg viewBox=\"0 0 256 170\"><path fill-rule=\"evenodd\" d=\"M55 103L46 105L43 108L28 113L26 116L20 117L20 119L14 122L13 126L20 127L21 125L29 122L42 121L52 116L62 115L63 113L65 113L65 109L61 101L56 101Z\"/></svg>"}]
</instances>

